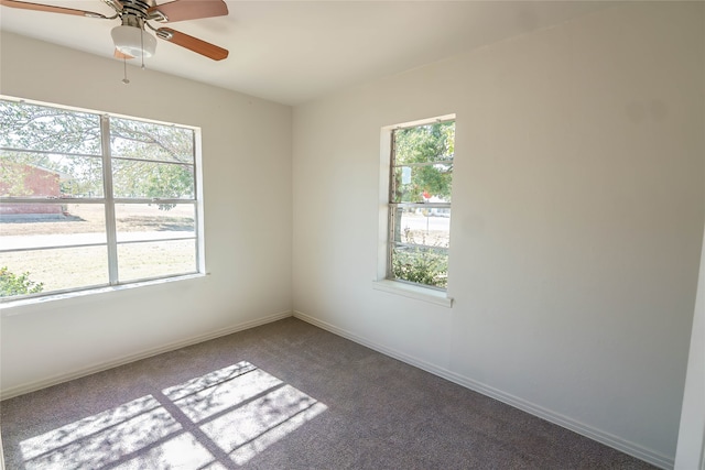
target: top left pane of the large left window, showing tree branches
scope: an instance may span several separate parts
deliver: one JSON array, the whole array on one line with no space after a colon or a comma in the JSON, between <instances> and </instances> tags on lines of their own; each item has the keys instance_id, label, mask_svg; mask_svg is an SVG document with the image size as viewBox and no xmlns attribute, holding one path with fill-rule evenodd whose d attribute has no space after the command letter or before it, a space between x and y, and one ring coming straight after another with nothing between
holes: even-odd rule
<instances>
[{"instance_id":1,"label":"top left pane of the large left window, showing tree branches","mask_svg":"<svg viewBox=\"0 0 705 470\"><path fill-rule=\"evenodd\" d=\"M100 155L100 117L0 100L0 146Z\"/></svg>"}]
</instances>

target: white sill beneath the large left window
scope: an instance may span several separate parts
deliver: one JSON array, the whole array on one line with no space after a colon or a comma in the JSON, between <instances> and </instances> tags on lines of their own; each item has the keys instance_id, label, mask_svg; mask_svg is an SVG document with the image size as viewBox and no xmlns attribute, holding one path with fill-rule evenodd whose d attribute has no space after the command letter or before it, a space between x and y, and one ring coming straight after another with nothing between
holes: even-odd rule
<instances>
[{"instance_id":1,"label":"white sill beneath the large left window","mask_svg":"<svg viewBox=\"0 0 705 470\"><path fill-rule=\"evenodd\" d=\"M151 280L151 281L140 281L140 282L134 282L129 284L120 284L116 286L96 287L96 288L88 288L84 291L48 294L41 297L8 300L8 302L0 303L0 316L11 317L14 315L21 315L21 314L26 314L31 311L39 311L39 310L43 310L48 306L55 305L56 303L59 303L59 302L70 302L72 305L74 305L74 303L82 303L83 300L91 302L95 299L97 295L101 295L101 294L116 293L120 291L131 291L138 287L156 286L156 285L163 285L163 284L186 281L186 280L195 280L195 278L205 277L207 275L208 273L185 274L181 276L165 277L165 278Z\"/></svg>"}]
</instances>

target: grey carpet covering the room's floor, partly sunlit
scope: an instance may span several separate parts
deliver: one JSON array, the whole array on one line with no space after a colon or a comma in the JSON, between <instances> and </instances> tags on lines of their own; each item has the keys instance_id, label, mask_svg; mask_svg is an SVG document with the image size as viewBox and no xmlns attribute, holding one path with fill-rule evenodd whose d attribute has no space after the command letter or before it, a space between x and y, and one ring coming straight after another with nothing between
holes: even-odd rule
<instances>
[{"instance_id":1,"label":"grey carpet covering the room's floor, partly sunlit","mask_svg":"<svg viewBox=\"0 0 705 470\"><path fill-rule=\"evenodd\" d=\"M15 469L650 469L304 321L1 403Z\"/></svg>"}]
</instances>

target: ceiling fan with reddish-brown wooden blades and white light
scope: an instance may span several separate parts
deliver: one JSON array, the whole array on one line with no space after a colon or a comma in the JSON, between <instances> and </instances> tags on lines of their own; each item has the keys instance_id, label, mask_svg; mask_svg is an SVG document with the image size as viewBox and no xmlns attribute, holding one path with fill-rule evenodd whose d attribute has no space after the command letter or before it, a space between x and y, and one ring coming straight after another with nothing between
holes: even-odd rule
<instances>
[{"instance_id":1,"label":"ceiling fan with reddish-brown wooden blades and white light","mask_svg":"<svg viewBox=\"0 0 705 470\"><path fill-rule=\"evenodd\" d=\"M156 37L214 61L223 61L228 56L227 50L218 47L215 44L207 43L197 37L172 30L171 28L154 28L149 23L150 21L174 23L176 21L227 15L228 7L223 0L174 0L162 4L156 4L156 0L102 1L115 10L116 13L112 17L106 17L105 14L93 11L30 3L19 0L0 0L0 4L23 10L74 14L102 20L120 19L122 24L115 26L111 31L116 47L115 56L117 58L144 58L154 55L156 39L145 30L145 26L152 30Z\"/></svg>"}]
</instances>

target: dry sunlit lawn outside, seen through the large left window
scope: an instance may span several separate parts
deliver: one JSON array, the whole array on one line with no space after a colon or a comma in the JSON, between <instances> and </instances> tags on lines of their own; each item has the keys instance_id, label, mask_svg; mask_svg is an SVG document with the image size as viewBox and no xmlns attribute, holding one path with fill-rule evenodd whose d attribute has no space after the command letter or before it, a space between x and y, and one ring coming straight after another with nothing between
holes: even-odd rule
<instances>
[{"instance_id":1,"label":"dry sunlit lawn outside, seen through the large left window","mask_svg":"<svg viewBox=\"0 0 705 470\"><path fill-rule=\"evenodd\" d=\"M116 221L119 233L139 237L178 238L194 232L193 206L159 210L155 206L118 206ZM67 205L61 219L0 218L0 239L21 237L22 242L52 236L105 232L102 205ZM138 233L139 232L139 233ZM0 240L1 241L1 240ZM105 285L108 283L106 245L30 250L0 253L0 266L14 274L30 273L30 281L43 283L43 292ZM196 270L195 240L126 243L118 245L120 282L156 277Z\"/></svg>"}]
</instances>

